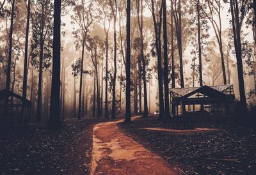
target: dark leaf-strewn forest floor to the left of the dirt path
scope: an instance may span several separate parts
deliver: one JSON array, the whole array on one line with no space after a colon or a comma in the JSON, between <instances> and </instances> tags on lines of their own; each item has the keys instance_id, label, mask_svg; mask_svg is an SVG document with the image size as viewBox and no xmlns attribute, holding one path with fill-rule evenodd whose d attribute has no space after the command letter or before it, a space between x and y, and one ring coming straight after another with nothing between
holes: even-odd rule
<instances>
[{"instance_id":1,"label":"dark leaf-strewn forest floor to the left of the dirt path","mask_svg":"<svg viewBox=\"0 0 256 175\"><path fill-rule=\"evenodd\" d=\"M0 174L89 174L93 126L104 121L68 119L58 130L29 125L0 132Z\"/></svg>"}]
</instances>

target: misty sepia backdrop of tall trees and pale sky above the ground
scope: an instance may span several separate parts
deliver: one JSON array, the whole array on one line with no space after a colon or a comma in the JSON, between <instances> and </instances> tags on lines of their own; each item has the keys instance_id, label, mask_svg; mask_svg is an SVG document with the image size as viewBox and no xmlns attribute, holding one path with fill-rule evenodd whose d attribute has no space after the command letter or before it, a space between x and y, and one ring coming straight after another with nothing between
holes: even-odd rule
<instances>
[{"instance_id":1,"label":"misty sepia backdrop of tall trees and pale sky above the ground","mask_svg":"<svg viewBox=\"0 0 256 175\"><path fill-rule=\"evenodd\" d=\"M117 109L127 122L164 118L171 88L223 84L246 112L256 102L255 19L254 0L1 0L0 89L31 102L30 123ZM1 101L1 115L19 115L4 108L15 100Z\"/></svg>"}]
</instances>

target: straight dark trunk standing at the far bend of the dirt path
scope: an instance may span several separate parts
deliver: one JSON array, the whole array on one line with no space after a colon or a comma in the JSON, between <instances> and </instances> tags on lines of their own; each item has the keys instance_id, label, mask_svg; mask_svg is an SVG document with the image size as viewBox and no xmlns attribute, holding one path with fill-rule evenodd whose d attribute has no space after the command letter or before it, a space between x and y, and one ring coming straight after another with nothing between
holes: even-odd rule
<instances>
[{"instance_id":1,"label":"straight dark trunk standing at the far bend of the dirt path","mask_svg":"<svg viewBox=\"0 0 256 175\"><path fill-rule=\"evenodd\" d=\"M125 122L131 122L131 41L130 41L130 25L131 25L131 0L127 0L126 8L126 91L125 91Z\"/></svg>"}]
</instances>

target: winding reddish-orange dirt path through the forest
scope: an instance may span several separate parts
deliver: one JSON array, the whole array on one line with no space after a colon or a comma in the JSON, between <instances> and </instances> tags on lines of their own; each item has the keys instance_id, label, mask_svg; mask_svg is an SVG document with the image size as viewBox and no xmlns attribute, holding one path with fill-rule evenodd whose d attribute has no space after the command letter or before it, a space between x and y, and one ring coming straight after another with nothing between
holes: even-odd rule
<instances>
[{"instance_id":1,"label":"winding reddish-orange dirt path through the forest","mask_svg":"<svg viewBox=\"0 0 256 175\"><path fill-rule=\"evenodd\" d=\"M118 122L94 126L90 174L182 174L122 133Z\"/></svg>"}]
</instances>

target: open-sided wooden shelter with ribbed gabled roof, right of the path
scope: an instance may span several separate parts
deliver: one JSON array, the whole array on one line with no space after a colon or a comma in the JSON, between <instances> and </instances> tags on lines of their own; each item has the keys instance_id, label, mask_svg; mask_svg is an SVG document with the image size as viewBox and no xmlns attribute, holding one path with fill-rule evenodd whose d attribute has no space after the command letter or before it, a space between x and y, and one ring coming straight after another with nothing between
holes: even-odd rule
<instances>
[{"instance_id":1,"label":"open-sided wooden shelter with ribbed gabled roof, right of the path","mask_svg":"<svg viewBox=\"0 0 256 175\"><path fill-rule=\"evenodd\" d=\"M221 112L223 116L232 112L236 98L233 85L202 86L170 89L173 115L186 112ZM193 108L193 109L192 109Z\"/></svg>"}]
</instances>

